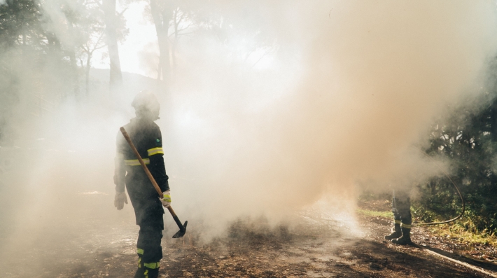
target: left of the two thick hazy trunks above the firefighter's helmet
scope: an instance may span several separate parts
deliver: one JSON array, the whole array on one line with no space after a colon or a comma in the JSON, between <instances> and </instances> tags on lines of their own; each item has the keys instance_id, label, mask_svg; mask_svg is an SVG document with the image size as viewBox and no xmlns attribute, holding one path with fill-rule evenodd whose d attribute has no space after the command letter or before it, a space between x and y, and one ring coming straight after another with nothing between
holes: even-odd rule
<instances>
[{"instance_id":1,"label":"left of the two thick hazy trunks above the firefighter's helmet","mask_svg":"<svg viewBox=\"0 0 497 278\"><path fill-rule=\"evenodd\" d=\"M116 30L118 20L116 17L116 0L103 0L103 8L105 13L107 48L109 49L109 60L111 61L111 79L109 83L112 88L113 85L119 85L123 82Z\"/></svg>"}]
</instances>

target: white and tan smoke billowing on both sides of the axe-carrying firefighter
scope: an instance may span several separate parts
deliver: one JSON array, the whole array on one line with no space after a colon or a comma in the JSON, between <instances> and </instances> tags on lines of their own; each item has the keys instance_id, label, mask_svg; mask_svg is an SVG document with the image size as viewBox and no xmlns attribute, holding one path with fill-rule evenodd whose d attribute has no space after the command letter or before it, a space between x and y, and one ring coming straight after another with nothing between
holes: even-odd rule
<instances>
[{"instance_id":1,"label":"white and tan smoke billowing on both sides of the axe-carrying firefighter","mask_svg":"<svg viewBox=\"0 0 497 278\"><path fill-rule=\"evenodd\" d=\"M175 211L223 227L323 199L351 210L360 185L381 191L439 174L416 148L430 120L479 92L497 50L491 1L203 2L192 3L232 27L179 41L167 95L153 79L125 74L110 96L108 73L94 70L87 103L69 97L41 119L2 119L16 136L1 149L25 150L0 183L5 250L40 239L63 249L69 239L61 239L79 240L81 230L95 238L130 230L122 224L134 221L130 204L113 207L113 156L139 90L162 104L157 123ZM60 36L69 46L76 40ZM144 72L157 68L153 52L137 50ZM24 99L56 77L22 62L11 67ZM109 219L109 234L89 228L96 218Z\"/></svg>"}]
</instances>

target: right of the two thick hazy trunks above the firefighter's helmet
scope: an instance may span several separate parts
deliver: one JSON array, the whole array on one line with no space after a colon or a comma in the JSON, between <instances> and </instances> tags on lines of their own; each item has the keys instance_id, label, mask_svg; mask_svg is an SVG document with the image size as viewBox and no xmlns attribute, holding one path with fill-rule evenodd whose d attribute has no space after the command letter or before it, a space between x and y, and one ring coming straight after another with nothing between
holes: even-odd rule
<instances>
[{"instance_id":1,"label":"right of the two thick hazy trunks above the firefighter's helmet","mask_svg":"<svg viewBox=\"0 0 497 278\"><path fill-rule=\"evenodd\" d=\"M159 74L158 80L165 81L165 91L171 83L171 62L169 61L169 20L172 18L172 3L170 0L150 0L151 13L159 44Z\"/></svg>"}]
</instances>

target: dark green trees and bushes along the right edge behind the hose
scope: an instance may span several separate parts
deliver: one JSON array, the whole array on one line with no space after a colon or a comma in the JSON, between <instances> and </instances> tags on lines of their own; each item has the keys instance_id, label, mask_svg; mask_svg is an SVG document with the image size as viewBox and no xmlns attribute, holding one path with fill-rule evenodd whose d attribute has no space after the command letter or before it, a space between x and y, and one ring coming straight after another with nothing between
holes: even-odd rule
<instances>
[{"instance_id":1,"label":"dark green trees and bushes along the right edge behind the hose","mask_svg":"<svg viewBox=\"0 0 497 278\"><path fill-rule=\"evenodd\" d=\"M449 162L449 176L465 197L463 223L476 231L497 228L497 63L489 67L488 85L475 98L451 109L451 117L435 120L426 153ZM477 107L477 108L476 108ZM461 201L447 176L420 186L423 221L449 218Z\"/></svg>"}]
</instances>

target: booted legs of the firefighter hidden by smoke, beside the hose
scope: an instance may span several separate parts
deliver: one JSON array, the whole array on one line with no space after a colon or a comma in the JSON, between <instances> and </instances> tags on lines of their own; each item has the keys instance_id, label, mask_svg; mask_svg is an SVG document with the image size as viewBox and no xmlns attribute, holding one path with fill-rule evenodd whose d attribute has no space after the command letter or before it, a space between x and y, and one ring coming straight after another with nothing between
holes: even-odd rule
<instances>
[{"instance_id":1,"label":"booted legs of the firefighter hidden by smoke, beside the hose","mask_svg":"<svg viewBox=\"0 0 497 278\"><path fill-rule=\"evenodd\" d=\"M396 194L396 195L395 195ZM391 240L395 244L413 244L411 241L411 201L409 193L405 190L393 190L392 197L393 229L385 239Z\"/></svg>"}]
</instances>

